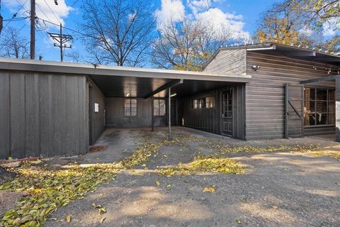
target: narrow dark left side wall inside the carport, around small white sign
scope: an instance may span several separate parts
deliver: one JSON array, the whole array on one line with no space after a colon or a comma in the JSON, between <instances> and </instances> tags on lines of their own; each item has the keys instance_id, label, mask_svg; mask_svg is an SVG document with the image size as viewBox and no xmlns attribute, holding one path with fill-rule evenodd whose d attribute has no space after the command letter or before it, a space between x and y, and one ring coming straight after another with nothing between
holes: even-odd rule
<instances>
[{"instance_id":1,"label":"narrow dark left side wall inside the carport, around small white sign","mask_svg":"<svg viewBox=\"0 0 340 227\"><path fill-rule=\"evenodd\" d=\"M89 86L91 87L91 123L92 123L92 144L98 140L98 138L101 136L105 129L105 109L106 109L106 104L105 104L105 96L103 92L101 92L100 89L91 82L89 81ZM94 104L99 105L99 111L95 112L94 111Z\"/></svg>"}]
</instances>

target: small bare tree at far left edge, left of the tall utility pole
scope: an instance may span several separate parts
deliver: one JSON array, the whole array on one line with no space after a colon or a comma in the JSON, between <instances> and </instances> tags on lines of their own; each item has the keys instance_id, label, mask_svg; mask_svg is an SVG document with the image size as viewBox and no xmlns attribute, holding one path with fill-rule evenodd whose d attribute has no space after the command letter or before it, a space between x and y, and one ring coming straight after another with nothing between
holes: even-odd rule
<instances>
[{"instance_id":1,"label":"small bare tree at far left edge, left of the tall utility pole","mask_svg":"<svg viewBox=\"0 0 340 227\"><path fill-rule=\"evenodd\" d=\"M30 56L29 41L16 28L8 26L1 35L1 57L27 58Z\"/></svg>"}]
</instances>

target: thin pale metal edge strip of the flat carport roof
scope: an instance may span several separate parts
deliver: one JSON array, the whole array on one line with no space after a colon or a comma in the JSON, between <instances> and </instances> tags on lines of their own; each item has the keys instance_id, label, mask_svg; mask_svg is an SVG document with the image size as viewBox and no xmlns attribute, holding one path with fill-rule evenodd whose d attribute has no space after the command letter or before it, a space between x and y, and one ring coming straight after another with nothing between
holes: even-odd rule
<instances>
[{"instance_id":1,"label":"thin pale metal edge strip of the flat carport roof","mask_svg":"<svg viewBox=\"0 0 340 227\"><path fill-rule=\"evenodd\" d=\"M251 79L250 75L245 74L212 74L209 72L158 70L137 67L51 62L44 60L23 60L6 57L0 57L0 70L86 74L106 77L188 79L215 82L249 82Z\"/></svg>"}]
</instances>

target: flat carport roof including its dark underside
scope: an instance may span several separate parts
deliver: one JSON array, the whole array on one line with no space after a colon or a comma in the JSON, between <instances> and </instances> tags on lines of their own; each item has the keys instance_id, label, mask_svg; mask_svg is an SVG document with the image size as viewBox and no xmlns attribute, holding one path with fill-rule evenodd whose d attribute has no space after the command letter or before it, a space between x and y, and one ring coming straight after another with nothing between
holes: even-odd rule
<instances>
[{"instance_id":1,"label":"flat carport roof including its dark underside","mask_svg":"<svg viewBox=\"0 0 340 227\"><path fill-rule=\"evenodd\" d=\"M56 74L81 74L90 77L110 97L123 97L126 94L145 97L165 84L182 80L171 91L178 96L188 96L197 92L220 89L231 84L250 82L245 74L211 74L180 70L158 70L137 67L77 64L68 62L47 62L38 60L16 60L0 57L0 69L10 71L42 72ZM165 97L163 89L156 96Z\"/></svg>"}]
</instances>

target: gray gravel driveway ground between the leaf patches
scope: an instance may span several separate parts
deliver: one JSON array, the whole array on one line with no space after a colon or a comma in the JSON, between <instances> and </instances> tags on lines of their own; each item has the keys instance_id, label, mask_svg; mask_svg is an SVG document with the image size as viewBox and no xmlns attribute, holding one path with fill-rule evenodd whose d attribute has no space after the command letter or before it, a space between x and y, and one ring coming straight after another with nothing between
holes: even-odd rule
<instances>
[{"instance_id":1,"label":"gray gravel driveway ground between the leaf patches","mask_svg":"<svg viewBox=\"0 0 340 227\"><path fill-rule=\"evenodd\" d=\"M327 138L245 142L188 128L174 128L174 132L240 145L315 144L340 150L339 143ZM82 163L122 160L146 138L166 138L166 128L153 133L108 129L96 144L106 150L87 154ZM123 170L84 199L57 209L51 216L57 221L47 221L45 226L340 226L339 160L299 152L236 153L223 156L246 165L244 174L159 176L157 167L217 152L205 141L183 138L181 142L163 146L145 165ZM215 193L203 192L213 186ZM107 212L98 214L92 204L104 206ZM72 216L71 223L66 216Z\"/></svg>"}]
</instances>

